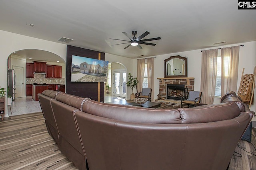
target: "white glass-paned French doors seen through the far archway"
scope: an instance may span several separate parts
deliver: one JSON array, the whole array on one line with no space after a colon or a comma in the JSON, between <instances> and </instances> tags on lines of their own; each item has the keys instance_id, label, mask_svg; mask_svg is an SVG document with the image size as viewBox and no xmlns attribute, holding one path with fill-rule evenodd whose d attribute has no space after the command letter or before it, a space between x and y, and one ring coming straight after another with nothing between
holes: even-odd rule
<instances>
[{"instance_id":1,"label":"white glass-paned French doors seen through the far archway","mask_svg":"<svg viewBox=\"0 0 256 170\"><path fill-rule=\"evenodd\" d=\"M126 71L113 71L113 96L124 97L126 95Z\"/></svg>"}]
</instances>

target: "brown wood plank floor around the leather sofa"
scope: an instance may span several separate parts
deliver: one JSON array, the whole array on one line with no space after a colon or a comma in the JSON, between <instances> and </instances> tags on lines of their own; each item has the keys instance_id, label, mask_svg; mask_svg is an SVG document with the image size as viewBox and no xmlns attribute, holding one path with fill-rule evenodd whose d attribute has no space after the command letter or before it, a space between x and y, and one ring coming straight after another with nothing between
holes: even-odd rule
<instances>
[{"instance_id":1,"label":"brown wood plank floor around the leather sofa","mask_svg":"<svg viewBox=\"0 0 256 170\"><path fill-rule=\"evenodd\" d=\"M252 142L239 142L242 149L236 147L236 152L242 156L232 157L229 170L256 170L255 134L253 128ZM42 113L16 115L0 121L0 156L1 170L77 170L48 134Z\"/></svg>"}]
</instances>

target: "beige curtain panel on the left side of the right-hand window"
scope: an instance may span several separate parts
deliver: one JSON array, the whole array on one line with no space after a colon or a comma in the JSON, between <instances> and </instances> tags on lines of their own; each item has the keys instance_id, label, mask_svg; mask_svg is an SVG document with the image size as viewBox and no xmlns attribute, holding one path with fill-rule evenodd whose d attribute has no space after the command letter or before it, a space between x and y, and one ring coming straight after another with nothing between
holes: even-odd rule
<instances>
[{"instance_id":1,"label":"beige curtain panel on the left side of the right-hand window","mask_svg":"<svg viewBox=\"0 0 256 170\"><path fill-rule=\"evenodd\" d=\"M213 104L217 76L218 49L202 51L201 102Z\"/></svg>"}]
</instances>

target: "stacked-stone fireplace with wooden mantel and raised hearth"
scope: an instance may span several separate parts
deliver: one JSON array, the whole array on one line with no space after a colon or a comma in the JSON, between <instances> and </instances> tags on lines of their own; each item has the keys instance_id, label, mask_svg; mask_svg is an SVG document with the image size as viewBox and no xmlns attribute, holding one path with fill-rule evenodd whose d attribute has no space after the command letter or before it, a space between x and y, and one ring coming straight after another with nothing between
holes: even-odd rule
<instances>
[{"instance_id":1,"label":"stacked-stone fireplace with wooden mantel and raised hearth","mask_svg":"<svg viewBox=\"0 0 256 170\"><path fill-rule=\"evenodd\" d=\"M187 91L194 90L194 77L157 79L159 79L159 94L165 98L165 100L155 100L155 102L159 102L164 105L180 106L181 96L185 96Z\"/></svg>"}]
</instances>

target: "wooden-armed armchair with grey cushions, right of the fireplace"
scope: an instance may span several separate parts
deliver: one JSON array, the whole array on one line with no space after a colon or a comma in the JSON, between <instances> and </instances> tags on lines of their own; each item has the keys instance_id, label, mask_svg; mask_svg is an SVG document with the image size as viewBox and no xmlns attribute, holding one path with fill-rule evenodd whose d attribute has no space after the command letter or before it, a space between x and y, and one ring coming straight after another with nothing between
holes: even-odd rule
<instances>
[{"instance_id":1,"label":"wooden-armed armchair with grey cushions, right of the fireplace","mask_svg":"<svg viewBox=\"0 0 256 170\"><path fill-rule=\"evenodd\" d=\"M201 96L202 96L202 92L189 91L188 92L188 99L187 100L181 100L180 107L184 107L184 106L195 107L195 104L198 104L198 103L201 102Z\"/></svg>"}]
</instances>

